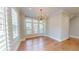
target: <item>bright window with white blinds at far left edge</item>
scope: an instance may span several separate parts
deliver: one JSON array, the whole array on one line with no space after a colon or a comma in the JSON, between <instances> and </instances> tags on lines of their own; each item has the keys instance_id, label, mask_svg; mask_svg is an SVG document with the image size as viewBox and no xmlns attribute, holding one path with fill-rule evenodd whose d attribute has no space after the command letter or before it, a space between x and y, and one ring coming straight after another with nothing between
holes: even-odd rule
<instances>
[{"instance_id":1,"label":"bright window with white blinds at far left edge","mask_svg":"<svg viewBox=\"0 0 79 59\"><path fill-rule=\"evenodd\" d=\"M7 50L5 8L0 7L0 51Z\"/></svg>"}]
</instances>

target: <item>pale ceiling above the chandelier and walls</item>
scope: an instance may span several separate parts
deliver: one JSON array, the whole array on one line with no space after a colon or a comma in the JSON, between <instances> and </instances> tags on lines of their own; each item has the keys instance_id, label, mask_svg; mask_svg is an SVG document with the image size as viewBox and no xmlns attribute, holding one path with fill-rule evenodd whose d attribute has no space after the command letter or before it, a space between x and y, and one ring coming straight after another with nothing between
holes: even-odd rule
<instances>
[{"instance_id":1,"label":"pale ceiling above the chandelier and walls","mask_svg":"<svg viewBox=\"0 0 79 59\"><path fill-rule=\"evenodd\" d=\"M41 8L43 9L43 14L48 17L62 10L74 15L79 14L79 7L19 7L18 9L25 16L36 17L40 14Z\"/></svg>"}]
</instances>

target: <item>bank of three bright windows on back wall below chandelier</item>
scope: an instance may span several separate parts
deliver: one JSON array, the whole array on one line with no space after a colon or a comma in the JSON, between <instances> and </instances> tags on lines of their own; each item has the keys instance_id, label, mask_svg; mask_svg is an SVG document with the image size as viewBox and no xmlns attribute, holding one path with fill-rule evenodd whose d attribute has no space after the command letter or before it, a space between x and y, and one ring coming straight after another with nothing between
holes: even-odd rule
<instances>
[{"instance_id":1,"label":"bank of three bright windows on back wall below chandelier","mask_svg":"<svg viewBox=\"0 0 79 59\"><path fill-rule=\"evenodd\" d=\"M26 34L43 34L45 31L45 22L33 18L26 18L25 29Z\"/></svg>"}]
</instances>

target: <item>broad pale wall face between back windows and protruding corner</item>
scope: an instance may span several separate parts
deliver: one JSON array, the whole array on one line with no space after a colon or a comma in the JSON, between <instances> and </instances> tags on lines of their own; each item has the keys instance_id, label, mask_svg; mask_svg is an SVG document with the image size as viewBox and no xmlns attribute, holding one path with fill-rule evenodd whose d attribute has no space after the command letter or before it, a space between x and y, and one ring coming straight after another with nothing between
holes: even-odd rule
<instances>
[{"instance_id":1,"label":"broad pale wall face between back windows and protruding corner","mask_svg":"<svg viewBox=\"0 0 79 59\"><path fill-rule=\"evenodd\" d=\"M61 38L61 22L59 13L55 13L48 19L48 36L59 40Z\"/></svg>"}]
</instances>

